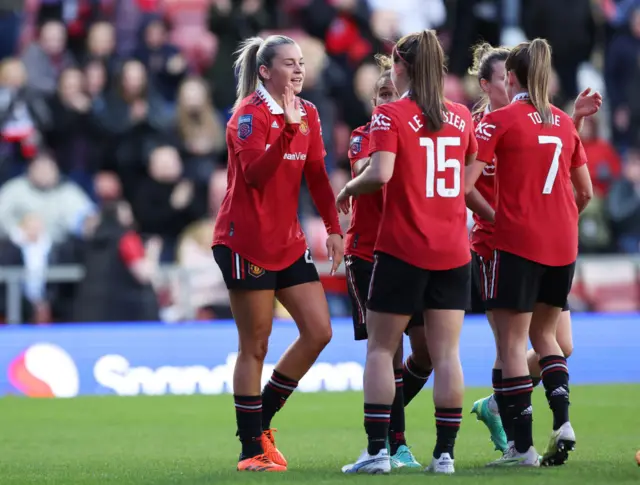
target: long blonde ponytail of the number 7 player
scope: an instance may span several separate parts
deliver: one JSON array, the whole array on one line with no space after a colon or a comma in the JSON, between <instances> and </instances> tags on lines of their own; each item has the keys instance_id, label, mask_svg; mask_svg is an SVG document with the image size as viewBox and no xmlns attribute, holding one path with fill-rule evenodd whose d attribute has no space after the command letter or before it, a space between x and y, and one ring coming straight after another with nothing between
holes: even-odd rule
<instances>
[{"instance_id":1,"label":"long blonde ponytail of the number 7 player","mask_svg":"<svg viewBox=\"0 0 640 485\"><path fill-rule=\"evenodd\" d=\"M549 80L551 77L551 48L544 39L534 39L529 44L529 73L527 85L531 104L544 124L551 124L551 103L549 102Z\"/></svg>"}]
</instances>

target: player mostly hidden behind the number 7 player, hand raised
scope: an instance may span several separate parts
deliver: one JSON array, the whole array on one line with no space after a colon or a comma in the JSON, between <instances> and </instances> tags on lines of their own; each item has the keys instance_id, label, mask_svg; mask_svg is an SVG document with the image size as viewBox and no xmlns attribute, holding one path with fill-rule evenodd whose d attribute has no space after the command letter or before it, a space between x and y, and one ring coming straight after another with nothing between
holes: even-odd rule
<instances>
[{"instance_id":1,"label":"player mostly hidden behind the number 7 player, hand raised","mask_svg":"<svg viewBox=\"0 0 640 485\"><path fill-rule=\"evenodd\" d=\"M474 122L476 132L483 134L487 124L482 118L492 110L503 108L509 104L509 98L505 88L505 61L509 56L510 50L504 47L492 47L490 44L483 43L474 49L474 63L470 70L472 75L478 77L478 82L484 93L482 99L478 102L474 110ZM573 123L578 129L582 126L584 118L598 112L602 105L602 96L599 93L590 94L590 89L586 89L578 96L574 105ZM495 206L494 194L495 164L488 164L482 171L475 184L475 188L492 207ZM489 282L491 281L491 257L492 257L492 236L493 236L493 220L487 220L474 214L474 227L471 231L471 252L472 252L472 306L474 301L479 302L484 307L483 300L490 292ZM495 333L495 324L493 314L487 311L487 319L491 325L491 329ZM535 328L532 328L535 332ZM535 337L534 337L535 338ZM565 358L571 355L573 350L573 340L571 337L571 317L568 306L565 306L558 321L556 338ZM496 340L497 342L497 340ZM529 362L529 372L535 387L540 382L540 367L538 365L539 356L533 349L527 354ZM513 437L510 430L503 430L500 420L500 408L504 407L502 403L502 395L500 394L502 381L502 363L498 359L498 351L496 349L496 360L492 372L492 382L494 394L484 399L476 401L473 405L472 413L482 421L491 433L491 440L494 442L496 449L502 452L509 452L513 449Z\"/></svg>"}]
</instances>

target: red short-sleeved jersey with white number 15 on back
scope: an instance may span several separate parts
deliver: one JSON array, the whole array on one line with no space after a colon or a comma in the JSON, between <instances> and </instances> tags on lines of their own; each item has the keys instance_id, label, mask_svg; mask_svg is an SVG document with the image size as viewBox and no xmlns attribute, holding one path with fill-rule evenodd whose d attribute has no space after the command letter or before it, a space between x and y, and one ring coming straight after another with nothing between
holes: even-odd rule
<instances>
[{"instance_id":1,"label":"red short-sleeved jersey with white number 15 on back","mask_svg":"<svg viewBox=\"0 0 640 485\"><path fill-rule=\"evenodd\" d=\"M375 249L427 270L471 259L463 176L477 143L469 110L452 102L447 109L437 133L408 97L377 107L371 119L369 153L396 154Z\"/></svg>"}]
</instances>

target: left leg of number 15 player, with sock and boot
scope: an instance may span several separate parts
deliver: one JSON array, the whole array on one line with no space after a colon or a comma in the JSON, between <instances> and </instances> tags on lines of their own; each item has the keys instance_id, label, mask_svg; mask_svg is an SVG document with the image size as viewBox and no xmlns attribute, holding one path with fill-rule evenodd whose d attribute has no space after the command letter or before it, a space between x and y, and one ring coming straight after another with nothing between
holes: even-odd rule
<instances>
[{"instance_id":1,"label":"left leg of number 15 player, with sock and boot","mask_svg":"<svg viewBox=\"0 0 640 485\"><path fill-rule=\"evenodd\" d=\"M364 367L364 426L368 446L344 473L389 473L386 447L391 408L396 393L393 358L409 316L367 310L367 360Z\"/></svg>"}]
</instances>

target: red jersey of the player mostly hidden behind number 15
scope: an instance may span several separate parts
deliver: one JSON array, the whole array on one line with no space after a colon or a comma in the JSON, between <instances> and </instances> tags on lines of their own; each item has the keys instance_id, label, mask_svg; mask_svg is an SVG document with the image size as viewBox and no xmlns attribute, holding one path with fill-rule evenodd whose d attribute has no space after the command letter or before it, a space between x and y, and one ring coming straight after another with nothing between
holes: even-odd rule
<instances>
[{"instance_id":1,"label":"red jersey of the player mostly hidden behind number 15","mask_svg":"<svg viewBox=\"0 0 640 485\"><path fill-rule=\"evenodd\" d=\"M351 133L349 143L349 161L351 162L351 176L355 177L353 166L359 160L369 156L369 126L356 128ZM378 226L382 216L382 191L364 194L353 200L351 210L351 224L345 237L344 253L357 256L366 261L373 261L373 248L378 236Z\"/></svg>"}]
</instances>

